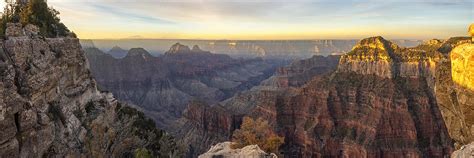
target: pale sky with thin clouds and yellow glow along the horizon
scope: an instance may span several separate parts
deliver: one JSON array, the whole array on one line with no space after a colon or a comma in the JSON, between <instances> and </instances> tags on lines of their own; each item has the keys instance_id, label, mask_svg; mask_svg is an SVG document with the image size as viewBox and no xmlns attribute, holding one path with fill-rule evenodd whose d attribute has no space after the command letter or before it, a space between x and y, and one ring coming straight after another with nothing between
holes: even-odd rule
<instances>
[{"instance_id":1,"label":"pale sky with thin clouds and yellow glow along the horizon","mask_svg":"<svg viewBox=\"0 0 474 158\"><path fill-rule=\"evenodd\" d=\"M472 0L48 0L83 39L466 36ZM4 5L0 1L0 5Z\"/></svg>"}]
</instances>

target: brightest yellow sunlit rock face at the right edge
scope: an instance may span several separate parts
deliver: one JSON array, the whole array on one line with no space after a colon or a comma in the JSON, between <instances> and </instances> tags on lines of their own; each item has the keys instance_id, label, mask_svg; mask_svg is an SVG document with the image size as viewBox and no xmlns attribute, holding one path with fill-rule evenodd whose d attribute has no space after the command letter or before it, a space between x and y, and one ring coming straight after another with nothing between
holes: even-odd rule
<instances>
[{"instance_id":1,"label":"brightest yellow sunlit rock face at the right edge","mask_svg":"<svg viewBox=\"0 0 474 158\"><path fill-rule=\"evenodd\" d=\"M451 52L452 77L458 85L474 91L474 44L463 44Z\"/></svg>"}]
</instances>

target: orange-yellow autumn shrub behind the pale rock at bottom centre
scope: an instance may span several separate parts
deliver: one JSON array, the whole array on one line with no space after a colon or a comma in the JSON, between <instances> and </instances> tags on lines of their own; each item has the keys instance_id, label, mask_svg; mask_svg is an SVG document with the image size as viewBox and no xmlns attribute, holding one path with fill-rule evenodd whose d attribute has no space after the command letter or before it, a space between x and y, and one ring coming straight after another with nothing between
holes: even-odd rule
<instances>
[{"instance_id":1,"label":"orange-yellow autumn shrub behind the pale rock at bottom centre","mask_svg":"<svg viewBox=\"0 0 474 158\"><path fill-rule=\"evenodd\" d=\"M284 143L284 137L278 136L262 118L253 120L244 117L240 129L232 135L233 148L242 148L247 145L258 145L265 152L278 153L278 148Z\"/></svg>"}]
</instances>

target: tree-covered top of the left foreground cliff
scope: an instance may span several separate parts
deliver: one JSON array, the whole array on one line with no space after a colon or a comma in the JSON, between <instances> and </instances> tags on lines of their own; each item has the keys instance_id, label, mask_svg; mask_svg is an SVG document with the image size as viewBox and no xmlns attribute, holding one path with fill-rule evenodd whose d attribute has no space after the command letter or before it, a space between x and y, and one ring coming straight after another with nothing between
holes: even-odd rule
<instances>
[{"instance_id":1,"label":"tree-covered top of the left foreground cliff","mask_svg":"<svg viewBox=\"0 0 474 158\"><path fill-rule=\"evenodd\" d=\"M65 37L76 35L61 23L59 12L48 7L46 0L7 0L0 20L0 36L5 37L7 23L33 24L39 27L44 37Z\"/></svg>"}]
</instances>

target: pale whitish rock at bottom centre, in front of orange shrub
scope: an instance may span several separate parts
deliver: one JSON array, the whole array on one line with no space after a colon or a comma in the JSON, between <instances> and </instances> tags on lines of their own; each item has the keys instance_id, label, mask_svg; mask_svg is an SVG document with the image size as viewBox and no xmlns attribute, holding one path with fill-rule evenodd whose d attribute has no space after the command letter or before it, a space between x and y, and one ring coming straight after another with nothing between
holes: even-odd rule
<instances>
[{"instance_id":1,"label":"pale whitish rock at bottom centre, in front of orange shrub","mask_svg":"<svg viewBox=\"0 0 474 158\"><path fill-rule=\"evenodd\" d=\"M232 149L231 144L232 142L216 144L209 151L200 155L199 158L277 158L273 153L265 153L258 145L249 145L242 149Z\"/></svg>"}]
</instances>

